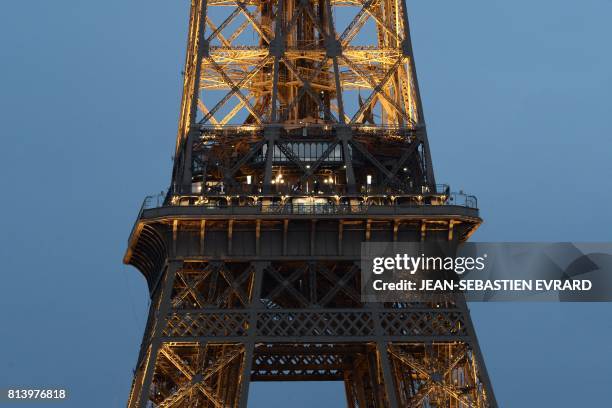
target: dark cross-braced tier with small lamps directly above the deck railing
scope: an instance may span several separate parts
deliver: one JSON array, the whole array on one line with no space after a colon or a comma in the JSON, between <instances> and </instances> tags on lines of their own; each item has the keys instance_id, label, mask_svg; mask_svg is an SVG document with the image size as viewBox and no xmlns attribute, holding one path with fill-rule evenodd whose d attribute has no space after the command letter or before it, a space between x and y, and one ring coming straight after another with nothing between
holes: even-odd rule
<instances>
[{"instance_id":1,"label":"dark cross-braced tier with small lamps directly above the deck railing","mask_svg":"<svg viewBox=\"0 0 612 408\"><path fill-rule=\"evenodd\" d=\"M430 188L433 179L424 134L401 128L384 132L355 128L345 148L341 132L330 132L331 128L316 127L287 131L270 142L256 128L206 129L191 144L191 183L184 188L189 193L197 188L197 194L204 196L245 197L266 191L291 196L329 190L330 196L344 195L350 185L358 193L415 197L425 187L436 191Z\"/></svg>"}]
</instances>

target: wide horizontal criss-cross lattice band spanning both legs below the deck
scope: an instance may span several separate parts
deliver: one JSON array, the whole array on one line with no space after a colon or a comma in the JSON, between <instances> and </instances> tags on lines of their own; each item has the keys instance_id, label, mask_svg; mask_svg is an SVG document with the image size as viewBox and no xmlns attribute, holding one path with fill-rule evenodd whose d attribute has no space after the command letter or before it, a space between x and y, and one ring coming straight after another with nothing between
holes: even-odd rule
<instances>
[{"instance_id":1,"label":"wide horizontal criss-cross lattice band spanning both legs below the deck","mask_svg":"<svg viewBox=\"0 0 612 408\"><path fill-rule=\"evenodd\" d=\"M257 341L286 337L369 341L379 336L463 341L469 337L465 313L458 310L269 309L255 315L251 335ZM249 335L250 319L248 312L239 310L174 311L168 316L162 335L167 339L240 339Z\"/></svg>"}]
</instances>

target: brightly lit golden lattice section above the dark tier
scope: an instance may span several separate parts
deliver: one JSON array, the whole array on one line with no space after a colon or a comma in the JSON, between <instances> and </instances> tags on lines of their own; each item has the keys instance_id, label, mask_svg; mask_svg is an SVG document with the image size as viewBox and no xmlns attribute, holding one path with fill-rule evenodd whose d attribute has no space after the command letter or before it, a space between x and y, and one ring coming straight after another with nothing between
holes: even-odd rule
<instances>
[{"instance_id":1,"label":"brightly lit golden lattice section above the dark tier","mask_svg":"<svg viewBox=\"0 0 612 408\"><path fill-rule=\"evenodd\" d=\"M403 14L388 0L194 0L179 142L195 124L415 126Z\"/></svg>"}]
</instances>

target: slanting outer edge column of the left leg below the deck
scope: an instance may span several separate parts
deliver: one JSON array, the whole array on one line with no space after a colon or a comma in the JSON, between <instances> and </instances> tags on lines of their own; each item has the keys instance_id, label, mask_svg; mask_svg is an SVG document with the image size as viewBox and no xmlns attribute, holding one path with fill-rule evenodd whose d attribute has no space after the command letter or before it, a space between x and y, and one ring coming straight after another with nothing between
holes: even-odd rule
<instances>
[{"instance_id":1,"label":"slanting outer edge column of the left leg below the deck","mask_svg":"<svg viewBox=\"0 0 612 408\"><path fill-rule=\"evenodd\" d=\"M172 297L174 279L176 277L176 272L182 267L182 265L183 262L178 260L169 261L166 265L163 285L161 285L159 289L162 292L160 295L159 308L156 313L155 328L153 329L153 335L151 336L151 344L149 345L149 352L143 367L142 382L140 384L134 384L134 390L139 390L139 392L134 392L133 395L133 398L137 398L137 400L132 399L128 402L128 406L130 408L145 408L147 406L151 382L153 380L153 373L155 372L157 354L162 343L160 338L162 337L164 327L166 326L168 313L170 312L171 308L170 301Z\"/></svg>"}]
</instances>

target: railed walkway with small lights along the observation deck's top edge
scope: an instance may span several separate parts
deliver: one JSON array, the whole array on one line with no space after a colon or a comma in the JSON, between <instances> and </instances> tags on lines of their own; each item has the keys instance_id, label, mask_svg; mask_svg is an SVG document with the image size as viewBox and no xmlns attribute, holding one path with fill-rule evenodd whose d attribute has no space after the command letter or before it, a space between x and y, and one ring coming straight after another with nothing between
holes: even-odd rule
<instances>
[{"instance_id":1,"label":"railed walkway with small lights along the observation deck's top edge","mask_svg":"<svg viewBox=\"0 0 612 408\"><path fill-rule=\"evenodd\" d=\"M261 193L261 187L244 185L241 190L199 191L145 197L136 225L155 219L360 219L380 217L470 217L479 219L478 200L463 192L451 192L445 184L421 193L389 195L365 186L362 194L347 194L332 183L305 193L291 186ZM133 235L133 231L132 231ZM130 236L131 238L131 236Z\"/></svg>"}]
</instances>

